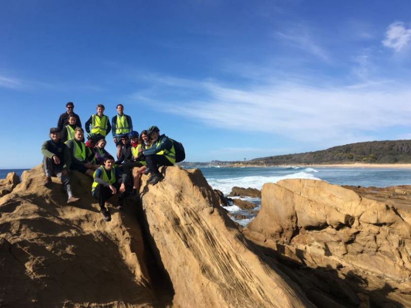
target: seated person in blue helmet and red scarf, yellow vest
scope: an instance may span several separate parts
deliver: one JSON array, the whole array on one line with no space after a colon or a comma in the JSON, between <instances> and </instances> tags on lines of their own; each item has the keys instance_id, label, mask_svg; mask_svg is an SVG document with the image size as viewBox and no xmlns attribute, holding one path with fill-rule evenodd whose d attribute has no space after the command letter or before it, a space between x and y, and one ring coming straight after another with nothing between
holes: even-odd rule
<instances>
[{"instance_id":1,"label":"seated person in blue helmet and red scarf, yellow vest","mask_svg":"<svg viewBox=\"0 0 411 308\"><path fill-rule=\"evenodd\" d=\"M147 131L146 131L147 133ZM139 167L133 173L134 181L132 191L129 197L134 197L137 194L137 190L139 188L140 177L144 170L146 170L146 162L144 161L137 161L136 159L139 157L139 154L145 149L144 142L140 143L139 133L136 131L130 132L130 139L131 139L131 161L124 162L123 165L123 175L122 175L122 183L120 185L121 193L125 193L128 190L128 187L131 187L131 170L134 167ZM127 197L127 198L129 198Z\"/></svg>"}]
</instances>

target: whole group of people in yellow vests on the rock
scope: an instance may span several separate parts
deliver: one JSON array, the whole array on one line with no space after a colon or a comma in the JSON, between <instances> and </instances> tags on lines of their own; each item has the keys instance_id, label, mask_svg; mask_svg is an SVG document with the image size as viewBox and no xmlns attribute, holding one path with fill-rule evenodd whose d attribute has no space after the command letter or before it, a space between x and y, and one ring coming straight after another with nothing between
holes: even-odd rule
<instances>
[{"instance_id":1,"label":"whole group of people in yellow vests on the rock","mask_svg":"<svg viewBox=\"0 0 411 308\"><path fill-rule=\"evenodd\" d=\"M106 221L111 218L107 199L118 194L117 208L121 209L125 198L139 196L143 173L150 172L148 183L155 185L164 178L158 167L176 163L172 139L161 135L157 126L150 126L139 135L132 129L131 117L124 114L124 106L118 104L116 109L117 114L110 124L104 114L104 105L97 105L97 112L85 123L88 134L84 142L80 117L74 112L74 103L68 102L57 127L50 129L50 140L42 145L44 185L48 186L51 177L57 176L67 195L67 204L70 204L80 198L73 195L68 172L77 170L93 177L91 193ZM105 149L110 131L117 147L116 160Z\"/></svg>"}]
</instances>

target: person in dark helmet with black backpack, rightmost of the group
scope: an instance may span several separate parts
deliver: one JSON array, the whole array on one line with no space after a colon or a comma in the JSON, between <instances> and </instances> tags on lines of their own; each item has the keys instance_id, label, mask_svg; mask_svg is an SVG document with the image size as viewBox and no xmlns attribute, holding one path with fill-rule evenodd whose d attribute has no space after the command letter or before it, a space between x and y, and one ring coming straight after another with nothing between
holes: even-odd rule
<instances>
[{"instance_id":1,"label":"person in dark helmet with black backpack, rightmost of the group","mask_svg":"<svg viewBox=\"0 0 411 308\"><path fill-rule=\"evenodd\" d=\"M176 150L171 139L166 135L160 135L157 126L151 126L148 134L152 140L152 146L144 150L138 160L144 159L147 167L151 172L148 183L155 185L164 179L164 176L158 171L158 166L173 166L176 163Z\"/></svg>"}]
</instances>

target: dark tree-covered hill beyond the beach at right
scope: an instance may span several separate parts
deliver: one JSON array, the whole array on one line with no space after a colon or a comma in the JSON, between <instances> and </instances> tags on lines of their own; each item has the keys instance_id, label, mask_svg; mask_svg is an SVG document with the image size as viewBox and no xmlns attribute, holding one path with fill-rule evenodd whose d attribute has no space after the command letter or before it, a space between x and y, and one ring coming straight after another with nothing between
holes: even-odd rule
<instances>
[{"instance_id":1,"label":"dark tree-covered hill beyond the beach at right","mask_svg":"<svg viewBox=\"0 0 411 308\"><path fill-rule=\"evenodd\" d=\"M326 150L269 156L248 161L252 165L411 163L411 140L358 142Z\"/></svg>"}]
</instances>

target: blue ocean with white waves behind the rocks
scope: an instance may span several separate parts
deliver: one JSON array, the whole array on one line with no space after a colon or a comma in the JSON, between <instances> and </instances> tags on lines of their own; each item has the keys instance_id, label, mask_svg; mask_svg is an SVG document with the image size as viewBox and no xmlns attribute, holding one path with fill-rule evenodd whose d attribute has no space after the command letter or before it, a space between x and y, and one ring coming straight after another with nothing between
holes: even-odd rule
<instances>
[{"instance_id":1,"label":"blue ocean with white waves behind the rocks","mask_svg":"<svg viewBox=\"0 0 411 308\"><path fill-rule=\"evenodd\" d=\"M195 167L193 167L195 168ZM228 195L233 186L252 187L261 189L267 182L276 183L282 179L306 178L321 179L331 184L386 187L396 185L411 185L411 169L397 168L341 168L341 167L204 167L200 166L205 179L214 189L221 190ZM16 172L21 176L25 169L0 169L0 178L5 178L9 172ZM261 205L259 198L243 198L253 202L258 211ZM232 215L244 215L245 219L234 221L245 226L256 213L243 211L235 205L226 207Z\"/></svg>"}]
</instances>

